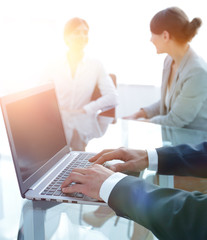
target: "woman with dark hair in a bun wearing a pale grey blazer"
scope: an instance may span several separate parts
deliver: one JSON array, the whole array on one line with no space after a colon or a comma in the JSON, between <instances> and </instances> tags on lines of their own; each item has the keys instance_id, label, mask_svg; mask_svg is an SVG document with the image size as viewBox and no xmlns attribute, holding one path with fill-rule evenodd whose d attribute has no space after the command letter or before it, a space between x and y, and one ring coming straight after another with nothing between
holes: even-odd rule
<instances>
[{"instance_id":1,"label":"woman with dark hair in a bun wearing a pale grey blazer","mask_svg":"<svg viewBox=\"0 0 207 240\"><path fill-rule=\"evenodd\" d=\"M125 119L145 118L162 125L207 130L207 63L189 45L200 26L200 18L190 22L176 7L152 18L151 41L158 54L168 54L161 99Z\"/></svg>"}]
</instances>

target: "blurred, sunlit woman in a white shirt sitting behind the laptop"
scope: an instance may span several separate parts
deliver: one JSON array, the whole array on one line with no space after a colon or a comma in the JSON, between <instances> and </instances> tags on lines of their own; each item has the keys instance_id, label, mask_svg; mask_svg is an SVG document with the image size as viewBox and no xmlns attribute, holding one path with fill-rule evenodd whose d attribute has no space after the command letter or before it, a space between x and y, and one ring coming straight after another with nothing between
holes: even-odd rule
<instances>
[{"instance_id":1,"label":"blurred, sunlit woman in a white shirt sitting behind the laptop","mask_svg":"<svg viewBox=\"0 0 207 240\"><path fill-rule=\"evenodd\" d=\"M68 51L56 61L51 69L50 80L55 84L63 123L68 141L71 141L71 129L79 132L74 116L84 114L85 118L94 118L97 113L114 108L118 104L118 94L109 74L102 63L85 56L84 48L88 43L89 26L81 18L70 19L64 28L64 41ZM92 101L95 87L98 86L101 97ZM75 124L75 125L74 125ZM82 122L82 125L84 122ZM93 126L86 126L82 138ZM81 127L83 131L83 127ZM83 141L85 141L82 139Z\"/></svg>"}]
</instances>

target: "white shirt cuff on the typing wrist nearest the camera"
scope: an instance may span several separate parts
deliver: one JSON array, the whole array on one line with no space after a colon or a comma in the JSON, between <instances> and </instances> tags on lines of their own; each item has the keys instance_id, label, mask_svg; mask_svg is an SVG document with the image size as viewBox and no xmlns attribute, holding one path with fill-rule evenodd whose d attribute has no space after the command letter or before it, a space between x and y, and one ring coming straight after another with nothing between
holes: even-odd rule
<instances>
[{"instance_id":1,"label":"white shirt cuff on the typing wrist nearest the camera","mask_svg":"<svg viewBox=\"0 0 207 240\"><path fill-rule=\"evenodd\" d=\"M110 177L108 177L103 184L101 185L99 196L104 200L104 202L108 203L109 196L111 194L111 191L115 187L115 185L124 177L126 177L126 174L117 172L112 174Z\"/></svg>"}]
</instances>

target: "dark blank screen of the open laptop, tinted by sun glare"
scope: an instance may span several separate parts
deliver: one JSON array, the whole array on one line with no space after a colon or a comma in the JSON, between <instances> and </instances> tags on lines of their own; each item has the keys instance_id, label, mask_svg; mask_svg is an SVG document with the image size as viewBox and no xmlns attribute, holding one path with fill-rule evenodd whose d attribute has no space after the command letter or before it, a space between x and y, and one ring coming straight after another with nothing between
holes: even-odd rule
<instances>
[{"instance_id":1,"label":"dark blank screen of the open laptop, tinted by sun glare","mask_svg":"<svg viewBox=\"0 0 207 240\"><path fill-rule=\"evenodd\" d=\"M5 105L4 111L13 158L25 182L67 143L54 88L18 96Z\"/></svg>"}]
</instances>

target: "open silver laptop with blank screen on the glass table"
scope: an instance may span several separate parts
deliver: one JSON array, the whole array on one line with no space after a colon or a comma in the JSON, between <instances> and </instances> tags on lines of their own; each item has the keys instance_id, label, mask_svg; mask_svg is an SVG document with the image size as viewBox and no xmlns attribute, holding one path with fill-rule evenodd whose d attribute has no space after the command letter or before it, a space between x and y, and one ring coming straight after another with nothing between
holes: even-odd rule
<instances>
[{"instance_id":1,"label":"open silver laptop with blank screen on the glass table","mask_svg":"<svg viewBox=\"0 0 207 240\"><path fill-rule=\"evenodd\" d=\"M23 198L105 205L61 191L72 169L89 166L95 154L70 151L52 83L3 96L1 108Z\"/></svg>"}]
</instances>

